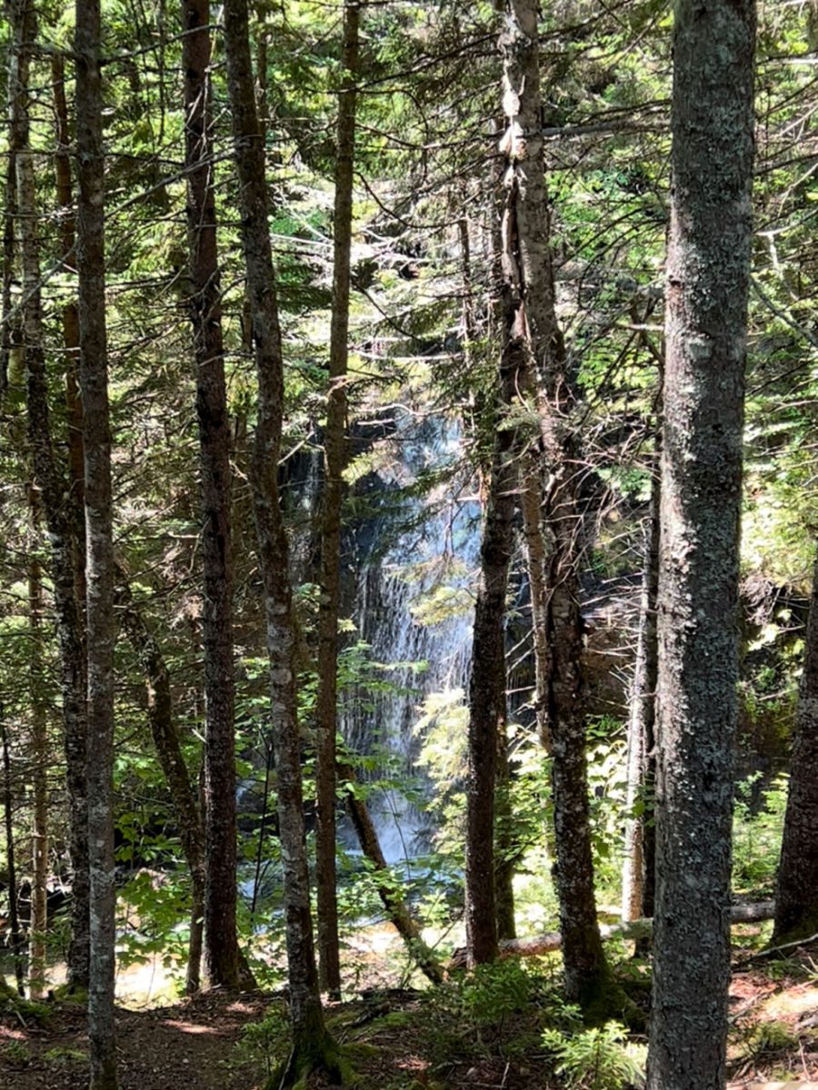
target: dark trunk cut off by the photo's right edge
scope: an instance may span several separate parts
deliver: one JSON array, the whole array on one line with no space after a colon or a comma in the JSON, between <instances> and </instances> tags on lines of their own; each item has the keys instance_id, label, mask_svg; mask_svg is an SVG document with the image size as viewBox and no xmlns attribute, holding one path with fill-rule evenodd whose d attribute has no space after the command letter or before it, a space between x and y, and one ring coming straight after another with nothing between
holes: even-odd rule
<instances>
[{"instance_id":1,"label":"dark trunk cut off by the photo's right edge","mask_svg":"<svg viewBox=\"0 0 818 1090\"><path fill-rule=\"evenodd\" d=\"M804 645L772 942L818 932L818 561Z\"/></svg>"}]
</instances>

